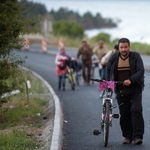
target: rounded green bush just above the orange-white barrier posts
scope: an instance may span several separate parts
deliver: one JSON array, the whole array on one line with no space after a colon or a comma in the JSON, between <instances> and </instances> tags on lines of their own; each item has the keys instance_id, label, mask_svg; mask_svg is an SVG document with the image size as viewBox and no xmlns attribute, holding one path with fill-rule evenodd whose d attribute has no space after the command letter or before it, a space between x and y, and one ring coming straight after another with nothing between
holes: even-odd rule
<instances>
[{"instance_id":1,"label":"rounded green bush just above the orange-white barrier posts","mask_svg":"<svg viewBox=\"0 0 150 150\"><path fill-rule=\"evenodd\" d=\"M84 28L73 21L57 21L53 23L53 33L70 37L83 37Z\"/></svg>"}]
</instances>

